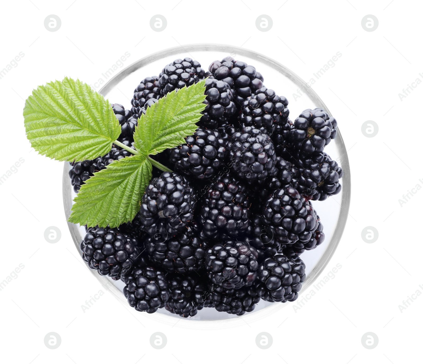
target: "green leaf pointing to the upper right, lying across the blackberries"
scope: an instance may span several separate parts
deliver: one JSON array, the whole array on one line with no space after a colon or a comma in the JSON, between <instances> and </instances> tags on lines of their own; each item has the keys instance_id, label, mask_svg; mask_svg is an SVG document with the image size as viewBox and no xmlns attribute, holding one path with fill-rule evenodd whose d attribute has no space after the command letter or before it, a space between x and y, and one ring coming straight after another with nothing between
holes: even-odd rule
<instances>
[{"instance_id":1,"label":"green leaf pointing to the upper right, lying across the blackberries","mask_svg":"<svg viewBox=\"0 0 423 364\"><path fill-rule=\"evenodd\" d=\"M159 99L146 114L138 119L134 144L137 151L148 156L185 142L184 138L194 134L206 95L206 80L168 93Z\"/></svg>"}]
</instances>

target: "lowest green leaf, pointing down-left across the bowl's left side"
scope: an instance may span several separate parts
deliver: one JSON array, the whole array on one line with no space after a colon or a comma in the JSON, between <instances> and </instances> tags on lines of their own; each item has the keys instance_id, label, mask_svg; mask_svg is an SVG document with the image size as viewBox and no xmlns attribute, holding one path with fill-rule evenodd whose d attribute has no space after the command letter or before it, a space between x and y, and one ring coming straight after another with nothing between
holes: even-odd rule
<instances>
[{"instance_id":1,"label":"lowest green leaf, pointing down-left across the bowl's left side","mask_svg":"<svg viewBox=\"0 0 423 364\"><path fill-rule=\"evenodd\" d=\"M116 227L132 221L151 179L151 163L134 155L115 160L82 185L72 206L71 223Z\"/></svg>"}]
</instances>

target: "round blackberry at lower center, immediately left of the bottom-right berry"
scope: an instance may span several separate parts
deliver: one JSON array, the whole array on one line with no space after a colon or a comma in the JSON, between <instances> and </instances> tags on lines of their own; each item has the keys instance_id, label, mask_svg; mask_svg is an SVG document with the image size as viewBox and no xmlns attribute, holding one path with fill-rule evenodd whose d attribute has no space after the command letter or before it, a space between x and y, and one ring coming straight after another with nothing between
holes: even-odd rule
<instances>
[{"instance_id":1,"label":"round blackberry at lower center, immediately left of the bottom-right berry","mask_svg":"<svg viewBox=\"0 0 423 364\"><path fill-rule=\"evenodd\" d=\"M206 253L206 271L212 283L227 289L250 286L257 278L257 250L240 241L216 244Z\"/></svg>"}]
</instances>

